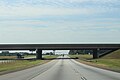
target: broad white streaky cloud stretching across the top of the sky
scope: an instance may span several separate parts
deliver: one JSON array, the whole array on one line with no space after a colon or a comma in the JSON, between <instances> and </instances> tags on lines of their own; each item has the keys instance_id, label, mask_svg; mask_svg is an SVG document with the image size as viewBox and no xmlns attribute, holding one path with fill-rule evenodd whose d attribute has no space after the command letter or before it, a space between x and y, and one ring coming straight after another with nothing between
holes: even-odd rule
<instances>
[{"instance_id":1,"label":"broad white streaky cloud stretching across the top of the sky","mask_svg":"<svg viewBox=\"0 0 120 80\"><path fill-rule=\"evenodd\" d=\"M5 0L0 1L4 17L38 17L46 15L91 15L105 13L118 6L118 0ZM110 6L109 6L110 5ZM108 7L106 10L105 8ZM109 9L109 7L112 7Z\"/></svg>"}]
</instances>

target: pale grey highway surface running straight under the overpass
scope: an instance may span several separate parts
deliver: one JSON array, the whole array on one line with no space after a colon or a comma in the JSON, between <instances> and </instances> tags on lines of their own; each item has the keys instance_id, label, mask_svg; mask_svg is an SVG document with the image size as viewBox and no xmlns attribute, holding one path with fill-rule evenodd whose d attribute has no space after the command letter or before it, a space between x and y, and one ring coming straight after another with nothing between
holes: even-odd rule
<instances>
[{"instance_id":1,"label":"pale grey highway surface running straight under the overpass","mask_svg":"<svg viewBox=\"0 0 120 80\"><path fill-rule=\"evenodd\" d=\"M72 59L56 59L34 68L1 75L0 80L120 80L120 73L87 66Z\"/></svg>"}]
</instances>

